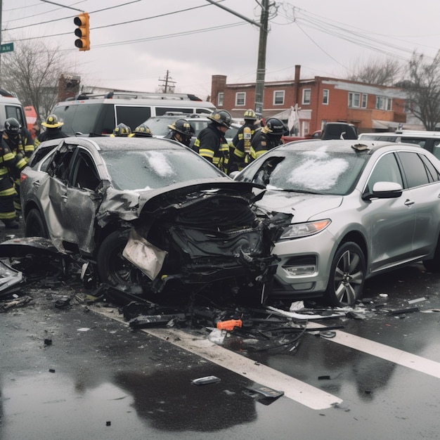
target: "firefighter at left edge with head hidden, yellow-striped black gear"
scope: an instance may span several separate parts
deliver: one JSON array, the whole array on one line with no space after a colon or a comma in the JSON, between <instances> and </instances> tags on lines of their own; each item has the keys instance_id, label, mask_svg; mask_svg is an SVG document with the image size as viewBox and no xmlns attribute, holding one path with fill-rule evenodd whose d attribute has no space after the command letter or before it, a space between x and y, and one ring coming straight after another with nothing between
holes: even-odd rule
<instances>
[{"instance_id":1,"label":"firefighter at left edge with head hidden, yellow-striped black gear","mask_svg":"<svg viewBox=\"0 0 440 440\"><path fill-rule=\"evenodd\" d=\"M18 193L15 183L11 176L11 170L19 172L27 164L24 157L15 155L3 138L0 138L0 220L6 228L17 229L17 211L15 210L14 200Z\"/></svg>"}]
</instances>

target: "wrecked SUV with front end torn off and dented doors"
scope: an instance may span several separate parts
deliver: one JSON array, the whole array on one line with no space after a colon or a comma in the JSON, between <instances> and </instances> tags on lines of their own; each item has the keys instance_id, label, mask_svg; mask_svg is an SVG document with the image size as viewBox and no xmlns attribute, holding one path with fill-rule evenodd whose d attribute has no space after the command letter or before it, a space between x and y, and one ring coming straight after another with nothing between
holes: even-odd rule
<instances>
[{"instance_id":1,"label":"wrecked SUV with front end torn off and dented doors","mask_svg":"<svg viewBox=\"0 0 440 440\"><path fill-rule=\"evenodd\" d=\"M21 176L25 235L134 293L267 293L278 226L257 219L252 186L167 139L46 141Z\"/></svg>"}]
</instances>

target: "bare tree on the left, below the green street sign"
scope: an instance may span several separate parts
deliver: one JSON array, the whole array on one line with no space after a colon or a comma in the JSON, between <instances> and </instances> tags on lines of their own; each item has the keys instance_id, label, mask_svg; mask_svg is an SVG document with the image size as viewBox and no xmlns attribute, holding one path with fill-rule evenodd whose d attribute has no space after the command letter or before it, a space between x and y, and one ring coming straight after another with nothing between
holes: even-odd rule
<instances>
[{"instance_id":1,"label":"bare tree on the left, below the green street sign","mask_svg":"<svg viewBox=\"0 0 440 440\"><path fill-rule=\"evenodd\" d=\"M58 101L58 79L66 70L65 53L58 47L20 42L1 56L1 87L15 92L23 105L33 105L41 120Z\"/></svg>"}]
</instances>

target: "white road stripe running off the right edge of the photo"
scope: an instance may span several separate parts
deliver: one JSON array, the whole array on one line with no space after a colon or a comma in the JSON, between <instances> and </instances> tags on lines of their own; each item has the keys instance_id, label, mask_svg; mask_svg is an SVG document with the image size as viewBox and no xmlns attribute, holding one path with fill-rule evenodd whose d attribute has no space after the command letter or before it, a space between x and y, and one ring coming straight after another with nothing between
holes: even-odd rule
<instances>
[{"instance_id":1,"label":"white road stripe running off the right edge of the photo","mask_svg":"<svg viewBox=\"0 0 440 440\"><path fill-rule=\"evenodd\" d=\"M324 325L318 323L307 323L307 328L320 328L325 327ZM416 354L410 354L408 351L403 351L399 349L394 349L389 347L389 345L380 344L380 342L370 341L370 339L365 339L364 337L350 335L347 332L342 332L341 330L335 330L336 336L328 341L336 342L337 344L344 345L345 347L350 347L358 351L363 351L363 353L368 353L378 358L385 359L386 361L397 363L398 365L403 365L403 367L408 367L420 373L425 373L440 379L440 363L431 361L427 358L422 358L422 356L417 356Z\"/></svg>"}]
</instances>

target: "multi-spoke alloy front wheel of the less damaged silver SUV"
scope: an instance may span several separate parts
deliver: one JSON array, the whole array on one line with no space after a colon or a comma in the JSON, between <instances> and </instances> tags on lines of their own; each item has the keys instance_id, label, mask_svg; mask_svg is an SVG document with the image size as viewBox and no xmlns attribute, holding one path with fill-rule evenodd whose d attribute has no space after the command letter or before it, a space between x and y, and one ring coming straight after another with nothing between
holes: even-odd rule
<instances>
[{"instance_id":1,"label":"multi-spoke alloy front wheel of the less damaged silver SUV","mask_svg":"<svg viewBox=\"0 0 440 440\"><path fill-rule=\"evenodd\" d=\"M352 306L361 299L366 263L361 247L355 242L343 243L335 254L326 297L335 307Z\"/></svg>"}]
</instances>

